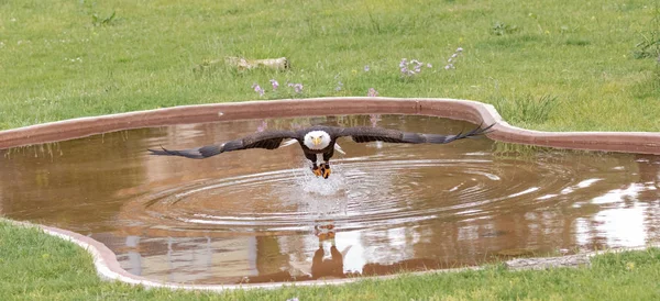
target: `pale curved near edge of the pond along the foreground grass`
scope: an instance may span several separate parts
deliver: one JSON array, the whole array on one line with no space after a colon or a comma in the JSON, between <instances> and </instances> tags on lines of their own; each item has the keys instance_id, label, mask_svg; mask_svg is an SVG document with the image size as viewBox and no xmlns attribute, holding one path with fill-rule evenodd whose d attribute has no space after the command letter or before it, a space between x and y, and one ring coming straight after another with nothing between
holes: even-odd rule
<instances>
[{"instance_id":1,"label":"pale curved near edge of the pond along the foreground grass","mask_svg":"<svg viewBox=\"0 0 660 301\"><path fill-rule=\"evenodd\" d=\"M387 280L396 279L402 275L387 275L387 276L367 276L367 277L355 277L355 278L342 278L342 279L323 279L323 280L311 280L311 281L299 281L299 282L271 282L271 283L254 283L254 285L182 285L176 282L163 282L145 277L132 275L124 270L112 250L110 250L105 244L63 228L45 226L40 224L33 224L28 222L18 222L0 218L0 220L8 221L14 226L21 227L37 227L45 234L62 238L64 241L74 243L85 250L87 250L94 260L97 275L107 281L121 281L132 286L142 286L147 289L173 289L173 290L205 290L205 291L226 291L235 289L279 289L285 287L308 287L308 286L326 286L326 285L345 285L358 282L362 280ZM605 250L593 250L586 253L579 253L575 255L560 256L560 257L537 257L537 258L517 258L507 260L504 263L505 267L509 270L528 270L528 269L549 269L549 268L579 268L590 266L591 257L596 255L603 255L607 253L619 253L628 250L644 250L650 247L660 247L660 243L649 244L637 247L620 247L610 248ZM406 272L405 275L421 276L443 272L459 272L465 270L481 270L485 269L485 266L476 267L464 267L464 268L452 268L452 269L438 269L438 270L426 270L416 272Z\"/></svg>"}]
</instances>

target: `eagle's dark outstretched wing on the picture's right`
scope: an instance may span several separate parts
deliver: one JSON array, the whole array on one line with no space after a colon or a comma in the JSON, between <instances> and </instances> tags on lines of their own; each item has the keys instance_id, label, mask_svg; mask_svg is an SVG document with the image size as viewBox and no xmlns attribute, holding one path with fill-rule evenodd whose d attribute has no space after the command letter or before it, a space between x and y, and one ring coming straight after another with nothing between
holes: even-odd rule
<instances>
[{"instance_id":1,"label":"eagle's dark outstretched wing on the picture's right","mask_svg":"<svg viewBox=\"0 0 660 301\"><path fill-rule=\"evenodd\" d=\"M455 135L439 135L439 134L421 134L421 133L408 133L402 132L397 130L389 130L383 127L345 127L339 129L336 133L338 137L341 136L351 136L354 142L363 143L363 142L372 142L372 141L382 141L388 143L435 143L435 144L443 144L450 143L452 141L462 140L462 138L471 138L474 136L487 134L488 130L493 127L495 124L491 124L484 129L477 126L476 129L466 132L466 133L458 133Z\"/></svg>"}]
</instances>

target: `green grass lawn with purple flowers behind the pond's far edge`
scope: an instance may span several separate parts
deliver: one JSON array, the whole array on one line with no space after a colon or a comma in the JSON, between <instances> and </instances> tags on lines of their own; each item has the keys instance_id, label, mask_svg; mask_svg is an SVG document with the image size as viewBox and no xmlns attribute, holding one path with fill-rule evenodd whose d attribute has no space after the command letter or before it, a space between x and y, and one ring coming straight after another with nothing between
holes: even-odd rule
<instances>
[{"instance_id":1,"label":"green grass lawn with purple flowers behind the pond's far edge","mask_svg":"<svg viewBox=\"0 0 660 301\"><path fill-rule=\"evenodd\" d=\"M658 64L635 55L658 51L658 3L642 0L3 0L0 129L254 100L251 86L275 78L301 82L304 93L282 89L264 99L375 88L383 97L494 103L524 127L660 131ZM459 46L457 69L444 70ZM286 56L293 68L194 71L226 56ZM403 79L404 57L433 68ZM507 110L528 98L554 105L540 119Z\"/></svg>"}]
</instances>

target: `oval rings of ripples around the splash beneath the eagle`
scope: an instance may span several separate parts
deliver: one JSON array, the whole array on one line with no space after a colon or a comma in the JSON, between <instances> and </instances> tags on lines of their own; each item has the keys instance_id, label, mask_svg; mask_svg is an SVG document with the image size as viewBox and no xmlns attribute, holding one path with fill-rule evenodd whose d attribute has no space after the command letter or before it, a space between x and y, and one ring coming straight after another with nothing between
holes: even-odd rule
<instances>
[{"instance_id":1,"label":"oval rings of ripples around the splash beneath the eagle","mask_svg":"<svg viewBox=\"0 0 660 301\"><path fill-rule=\"evenodd\" d=\"M542 160L352 158L336 161L327 180L305 167L170 187L127 204L122 219L174 233L266 235L307 231L330 220L355 230L494 218L561 202L553 193L583 185L571 174Z\"/></svg>"}]
</instances>

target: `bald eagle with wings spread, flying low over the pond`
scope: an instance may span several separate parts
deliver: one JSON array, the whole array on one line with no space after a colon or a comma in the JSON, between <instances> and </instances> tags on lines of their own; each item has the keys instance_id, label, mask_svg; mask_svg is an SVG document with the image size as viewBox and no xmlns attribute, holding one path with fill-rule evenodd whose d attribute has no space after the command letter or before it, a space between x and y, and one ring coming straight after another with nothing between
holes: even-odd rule
<instances>
[{"instance_id":1,"label":"bald eagle with wings spread, flying low over the pond","mask_svg":"<svg viewBox=\"0 0 660 301\"><path fill-rule=\"evenodd\" d=\"M351 136L356 143L365 142L387 142L387 143L433 143L444 144L462 138L471 138L474 136L487 134L487 130L495 124L481 129L481 125L468 133L458 133L455 135L439 135L439 134L421 134L408 133L397 130L383 127L338 127L315 125L298 131L268 131L254 133L242 138L228 141L220 144L212 144L196 148L173 150L162 147L162 149L147 149L151 155L158 156L182 156L193 159L204 159L227 152L249 149L249 148L265 148L275 149L280 145L290 144L284 143L284 140L296 141L300 144L305 157L311 161L311 171L317 177L328 178L330 176L330 158L334 155L334 150L341 152L337 144L337 138Z\"/></svg>"}]
</instances>

